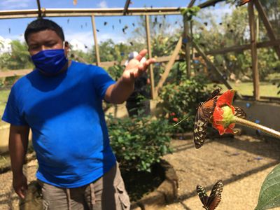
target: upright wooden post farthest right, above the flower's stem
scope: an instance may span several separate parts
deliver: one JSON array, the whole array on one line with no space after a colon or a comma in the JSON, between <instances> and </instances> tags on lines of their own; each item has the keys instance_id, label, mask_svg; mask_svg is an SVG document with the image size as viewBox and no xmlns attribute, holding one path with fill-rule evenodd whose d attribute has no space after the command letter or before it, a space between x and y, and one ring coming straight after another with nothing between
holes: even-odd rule
<instances>
[{"instance_id":1,"label":"upright wooden post farthest right, above the flower's stem","mask_svg":"<svg viewBox=\"0 0 280 210\"><path fill-rule=\"evenodd\" d=\"M255 31L255 15L253 9L253 3L248 3L248 15L250 25L250 36L251 36L251 56L252 56L252 71L253 71L253 96L255 100L260 100L260 78L258 74L258 55L257 55L257 41Z\"/></svg>"}]
</instances>

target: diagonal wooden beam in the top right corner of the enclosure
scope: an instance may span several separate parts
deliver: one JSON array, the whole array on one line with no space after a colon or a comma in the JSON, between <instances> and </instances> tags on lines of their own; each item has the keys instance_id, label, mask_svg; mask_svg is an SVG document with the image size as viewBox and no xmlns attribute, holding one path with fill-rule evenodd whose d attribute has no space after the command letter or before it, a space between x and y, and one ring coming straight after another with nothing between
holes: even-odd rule
<instances>
[{"instance_id":1,"label":"diagonal wooden beam in the top right corner of the enclosure","mask_svg":"<svg viewBox=\"0 0 280 210\"><path fill-rule=\"evenodd\" d=\"M272 25L270 24L267 15L265 14L265 10L262 8L262 4L259 0L253 1L255 3L255 8L258 10L258 15L262 19L263 25L265 25L265 28L267 29L267 35L271 41L276 40L276 36L274 34L274 31L272 29ZM280 45L274 47L279 59L280 59Z\"/></svg>"}]
</instances>

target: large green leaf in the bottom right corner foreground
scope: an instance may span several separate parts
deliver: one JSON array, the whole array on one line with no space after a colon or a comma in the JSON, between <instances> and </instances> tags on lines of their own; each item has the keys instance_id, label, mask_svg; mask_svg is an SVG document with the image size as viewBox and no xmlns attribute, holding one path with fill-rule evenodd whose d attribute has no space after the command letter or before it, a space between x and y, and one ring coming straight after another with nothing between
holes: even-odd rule
<instances>
[{"instance_id":1,"label":"large green leaf in the bottom right corner foreground","mask_svg":"<svg viewBox=\"0 0 280 210\"><path fill-rule=\"evenodd\" d=\"M270 172L262 183L255 210L280 207L280 165Z\"/></svg>"}]
</instances>

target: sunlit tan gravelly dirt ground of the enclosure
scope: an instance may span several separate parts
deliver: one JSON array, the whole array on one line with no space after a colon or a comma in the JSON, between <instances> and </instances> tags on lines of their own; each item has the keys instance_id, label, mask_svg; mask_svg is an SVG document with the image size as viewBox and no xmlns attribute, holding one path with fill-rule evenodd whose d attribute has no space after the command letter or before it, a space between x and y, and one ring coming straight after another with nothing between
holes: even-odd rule
<instances>
[{"instance_id":1,"label":"sunlit tan gravelly dirt ground of the enclosure","mask_svg":"<svg viewBox=\"0 0 280 210\"><path fill-rule=\"evenodd\" d=\"M174 153L164 158L179 177L179 199L163 210L203 209L195 190L197 184L211 190L219 179L225 186L217 209L254 209L262 181L280 162L280 141L246 135L207 140L198 150L191 139L173 140L172 147ZM36 160L28 163L29 181L35 179L36 167ZM18 204L11 183L11 172L0 174L0 209Z\"/></svg>"}]
</instances>

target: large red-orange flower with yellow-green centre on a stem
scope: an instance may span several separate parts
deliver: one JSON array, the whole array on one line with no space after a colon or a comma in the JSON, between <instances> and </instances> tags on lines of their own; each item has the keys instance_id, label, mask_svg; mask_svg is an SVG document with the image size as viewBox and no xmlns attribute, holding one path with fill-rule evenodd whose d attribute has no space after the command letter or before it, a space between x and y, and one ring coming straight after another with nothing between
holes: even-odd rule
<instances>
[{"instance_id":1,"label":"large red-orange flower with yellow-green centre on a stem","mask_svg":"<svg viewBox=\"0 0 280 210\"><path fill-rule=\"evenodd\" d=\"M218 97L214 109L212 125L218 130L220 135L225 133L234 133L235 127L235 107L232 106L232 99L235 96L235 90L228 90Z\"/></svg>"}]
</instances>

